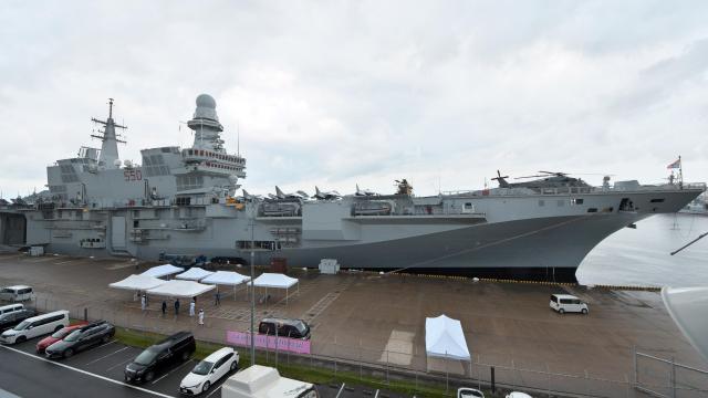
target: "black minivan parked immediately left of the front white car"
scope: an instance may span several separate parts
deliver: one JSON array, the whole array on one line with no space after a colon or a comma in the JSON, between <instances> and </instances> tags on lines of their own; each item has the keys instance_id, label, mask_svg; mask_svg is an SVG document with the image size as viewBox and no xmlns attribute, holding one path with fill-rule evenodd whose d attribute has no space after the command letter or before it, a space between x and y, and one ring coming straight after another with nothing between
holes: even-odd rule
<instances>
[{"instance_id":1,"label":"black minivan parked immediately left of the front white car","mask_svg":"<svg viewBox=\"0 0 708 398\"><path fill-rule=\"evenodd\" d=\"M125 367L125 381L150 381L156 374L189 359L195 349L195 336L189 332L177 332L135 357Z\"/></svg>"}]
</instances>

